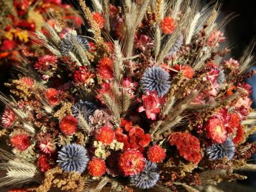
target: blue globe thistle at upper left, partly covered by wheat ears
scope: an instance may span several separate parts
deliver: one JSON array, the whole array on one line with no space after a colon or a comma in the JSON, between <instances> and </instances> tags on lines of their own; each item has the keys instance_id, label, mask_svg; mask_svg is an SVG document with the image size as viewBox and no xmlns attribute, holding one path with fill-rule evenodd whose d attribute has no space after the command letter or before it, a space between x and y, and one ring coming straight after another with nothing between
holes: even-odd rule
<instances>
[{"instance_id":1,"label":"blue globe thistle at upper left, partly covered by wheat ears","mask_svg":"<svg viewBox=\"0 0 256 192\"><path fill-rule=\"evenodd\" d=\"M74 54L78 54L76 44L78 43L83 50L90 50L90 45L88 43L88 40L80 35L76 34L67 34L63 40L61 40L60 44L60 52L62 55L68 55L68 52L73 52Z\"/></svg>"}]
</instances>

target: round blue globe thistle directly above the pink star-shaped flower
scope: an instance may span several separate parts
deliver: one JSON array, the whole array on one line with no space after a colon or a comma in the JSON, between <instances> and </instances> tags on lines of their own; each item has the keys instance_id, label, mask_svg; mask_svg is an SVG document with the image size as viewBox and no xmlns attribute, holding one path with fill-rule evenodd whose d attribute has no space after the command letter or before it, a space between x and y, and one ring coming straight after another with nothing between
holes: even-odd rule
<instances>
[{"instance_id":1,"label":"round blue globe thistle directly above the pink star-shaped flower","mask_svg":"<svg viewBox=\"0 0 256 192\"><path fill-rule=\"evenodd\" d=\"M141 85L143 91L149 90L150 92L156 91L157 96L164 96L170 87L170 75L159 66L147 68L141 78Z\"/></svg>"}]
</instances>

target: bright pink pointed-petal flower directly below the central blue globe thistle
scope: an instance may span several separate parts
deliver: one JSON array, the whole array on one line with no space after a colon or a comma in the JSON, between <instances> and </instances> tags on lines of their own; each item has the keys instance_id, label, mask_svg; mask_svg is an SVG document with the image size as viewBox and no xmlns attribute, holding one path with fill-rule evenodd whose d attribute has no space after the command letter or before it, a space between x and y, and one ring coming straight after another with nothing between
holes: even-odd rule
<instances>
[{"instance_id":1,"label":"bright pink pointed-petal flower directly below the central blue globe thistle","mask_svg":"<svg viewBox=\"0 0 256 192\"><path fill-rule=\"evenodd\" d=\"M143 105L138 108L138 112L145 111L148 119L156 120L156 114L161 111L161 105L164 103L164 97L158 97L156 91L149 92L142 96Z\"/></svg>"}]
</instances>

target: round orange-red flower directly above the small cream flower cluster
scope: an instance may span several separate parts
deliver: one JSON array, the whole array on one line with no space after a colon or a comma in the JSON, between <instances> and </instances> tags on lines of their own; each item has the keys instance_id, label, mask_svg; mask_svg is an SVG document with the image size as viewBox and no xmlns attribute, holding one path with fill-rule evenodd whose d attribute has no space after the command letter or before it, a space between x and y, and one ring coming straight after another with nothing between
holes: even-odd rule
<instances>
[{"instance_id":1,"label":"round orange-red flower directly above the small cream flower cluster","mask_svg":"<svg viewBox=\"0 0 256 192\"><path fill-rule=\"evenodd\" d=\"M115 138L115 131L108 126L104 126L99 129L95 138L97 141L102 142L102 144L110 145Z\"/></svg>"}]
</instances>

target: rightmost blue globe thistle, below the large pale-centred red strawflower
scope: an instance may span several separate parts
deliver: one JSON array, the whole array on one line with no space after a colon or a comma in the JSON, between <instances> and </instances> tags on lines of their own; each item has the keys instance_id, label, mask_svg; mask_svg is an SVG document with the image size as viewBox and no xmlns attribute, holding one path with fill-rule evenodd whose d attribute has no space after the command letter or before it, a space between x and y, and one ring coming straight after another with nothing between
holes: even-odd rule
<instances>
[{"instance_id":1,"label":"rightmost blue globe thistle, below the large pale-centred red strawflower","mask_svg":"<svg viewBox=\"0 0 256 192\"><path fill-rule=\"evenodd\" d=\"M222 159L227 156L228 161L230 161L234 157L236 147L232 139L228 137L223 144L212 144L206 148L205 152L211 160Z\"/></svg>"}]
</instances>

